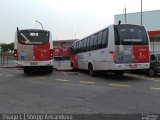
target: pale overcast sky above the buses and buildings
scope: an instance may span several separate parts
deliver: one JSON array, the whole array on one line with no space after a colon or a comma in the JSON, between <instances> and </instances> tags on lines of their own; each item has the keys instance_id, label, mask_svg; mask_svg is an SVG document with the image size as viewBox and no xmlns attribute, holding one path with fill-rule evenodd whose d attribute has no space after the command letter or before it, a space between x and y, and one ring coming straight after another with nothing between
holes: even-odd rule
<instances>
[{"instance_id":1,"label":"pale overcast sky above the buses and buildings","mask_svg":"<svg viewBox=\"0 0 160 120\"><path fill-rule=\"evenodd\" d=\"M140 12L141 0L0 0L0 43L14 42L19 29L44 29L53 40L81 39L114 23L114 15ZM160 0L143 0L143 11L160 10Z\"/></svg>"}]
</instances>

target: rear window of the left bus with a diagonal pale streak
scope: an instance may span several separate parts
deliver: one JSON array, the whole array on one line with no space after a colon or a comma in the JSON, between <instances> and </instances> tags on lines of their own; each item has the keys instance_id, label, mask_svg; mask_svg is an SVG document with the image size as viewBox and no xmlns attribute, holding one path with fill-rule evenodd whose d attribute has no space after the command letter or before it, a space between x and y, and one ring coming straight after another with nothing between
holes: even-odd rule
<instances>
[{"instance_id":1,"label":"rear window of the left bus with a diagonal pale streak","mask_svg":"<svg viewBox=\"0 0 160 120\"><path fill-rule=\"evenodd\" d=\"M20 44L45 44L49 41L48 31L20 30L18 42Z\"/></svg>"}]
</instances>

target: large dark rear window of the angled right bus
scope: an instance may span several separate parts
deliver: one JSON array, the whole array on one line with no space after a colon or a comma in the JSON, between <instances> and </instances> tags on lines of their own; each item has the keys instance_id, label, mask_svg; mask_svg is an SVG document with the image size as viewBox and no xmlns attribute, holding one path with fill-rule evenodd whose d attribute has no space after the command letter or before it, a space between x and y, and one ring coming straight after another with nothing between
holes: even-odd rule
<instances>
[{"instance_id":1,"label":"large dark rear window of the angled right bus","mask_svg":"<svg viewBox=\"0 0 160 120\"><path fill-rule=\"evenodd\" d=\"M147 45L148 37L143 26L115 25L116 45Z\"/></svg>"}]
</instances>

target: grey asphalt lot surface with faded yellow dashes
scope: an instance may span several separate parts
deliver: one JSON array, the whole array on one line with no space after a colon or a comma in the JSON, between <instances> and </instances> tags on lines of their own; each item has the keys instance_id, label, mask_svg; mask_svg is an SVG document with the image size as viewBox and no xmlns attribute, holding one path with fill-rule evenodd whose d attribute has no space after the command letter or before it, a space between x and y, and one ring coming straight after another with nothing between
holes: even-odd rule
<instances>
[{"instance_id":1,"label":"grey asphalt lot surface with faded yellow dashes","mask_svg":"<svg viewBox=\"0 0 160 120\"><path fill-rule=\"evenodd\" d=\"M159 113L160 76L0 68L1 113Z\"/></svg>"}]
</instances>

